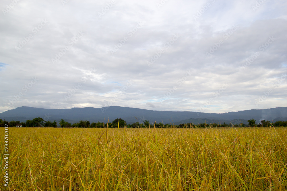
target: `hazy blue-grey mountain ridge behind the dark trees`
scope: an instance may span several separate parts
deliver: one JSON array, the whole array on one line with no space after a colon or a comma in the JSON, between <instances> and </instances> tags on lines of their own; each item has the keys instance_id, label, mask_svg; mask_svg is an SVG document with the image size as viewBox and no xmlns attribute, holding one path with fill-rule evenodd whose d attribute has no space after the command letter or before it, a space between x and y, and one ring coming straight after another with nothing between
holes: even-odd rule
<instances>
[{"instance_id":1,"label":"hazy blue-grey mountain ridge behind the dark trees","mask_svg":"<svg viewBox=\"0 0 287 191\"><path fill-rule=\"evenodd\" d=\"M54 121L57 123L61 119L69 123L75 123L80 120L88 120L92 122L107 122L117 118L124 119L127 124L132 124L138 120L150 121L150 123L168 123L179 125L180 123L224 123L230 122L238 124L240 122L247 123L249 119L255 119L256 123L260 120L269 121L287 121L287 107L277 107L271 109L251 109L246 111L228 112L228 113L198 113L193 111L153 111L147 109L138 109L130 107L110 106L108 108L72 108L72 109L42 109L34 107L17 107L0 113L0 119L6 121L25 122L36 117L41 117L45 121Z\"/></svg>"}]
</instances>

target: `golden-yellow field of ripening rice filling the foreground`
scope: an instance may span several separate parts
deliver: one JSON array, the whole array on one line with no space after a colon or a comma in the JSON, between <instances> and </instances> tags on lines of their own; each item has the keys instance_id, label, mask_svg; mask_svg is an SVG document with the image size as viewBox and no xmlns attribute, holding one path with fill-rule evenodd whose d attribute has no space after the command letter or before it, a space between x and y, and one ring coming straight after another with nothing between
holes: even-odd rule
<instances>
[{"instance_id":1,"label":"golden-yellow field of ripening rice filling the foreground","mask_svg":"<svg viewBox=\"0 0 287 191\"><path fill-rule=\"evenodd\" d=\"M9 190L287 190L287 128L9 127L9 153Z\"/></svg>"}]
</instances>

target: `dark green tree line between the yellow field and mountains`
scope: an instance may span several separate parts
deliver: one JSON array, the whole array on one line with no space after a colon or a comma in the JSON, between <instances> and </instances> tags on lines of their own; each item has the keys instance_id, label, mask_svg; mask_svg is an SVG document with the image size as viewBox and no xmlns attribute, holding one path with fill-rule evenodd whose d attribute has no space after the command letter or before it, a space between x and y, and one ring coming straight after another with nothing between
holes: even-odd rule
<instances>
[{"instance_id":1,"label":"dark green tree line between the yellow field and mountains","mask_svg":"<svg viewBox=\"0 0 287 191\"><path fill-rule=\"evenodd\" d=\"M90 121L84 121L81 120L77 123L69 123L63 119L59 121L59 125L57 125L57 122L51 122L51 121L45 121L41 117L34 118L32 120L26 120L26 122L20 122L20 121L6 121L0 119L0 127L4 127L4 125L9 125L9 127L16 127L16 125L22 125L23 127L79 127L79 128L101 128L101 127L128 127L128 128L148 128L148 127L157 127L157 128L184 128L184 127L270 127L271 125L275 127L287 127L287 121L277 121L275 123L272 123L270 121L261 120L260 123L256 124L256 121L254 119L248 120L248 124L239 123L238 125L233 125L231 123L226 124L225 122L223 124L217 124L217 123L200 123L198 125L195 125L193 123L181 123L179 125L173 125L173 124L163 124L163 123L152 123L150 124L150 121L144 120L143 122L135 122L132 124L127 124L126 121L123 119L115 119L112 122L98 122L98 123L90 123Z\"/></svg>"}]
</instances>

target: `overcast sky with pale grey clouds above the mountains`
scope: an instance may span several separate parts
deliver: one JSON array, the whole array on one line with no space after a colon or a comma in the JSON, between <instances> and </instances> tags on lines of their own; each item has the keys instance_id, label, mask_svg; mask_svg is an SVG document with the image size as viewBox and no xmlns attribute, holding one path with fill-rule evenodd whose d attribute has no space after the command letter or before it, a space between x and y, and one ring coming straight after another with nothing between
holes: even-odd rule
<instances>
[{"instance_id":1,"label":"overcast sky with pale grey clouds above the mountains","mask_svg":"<svg viewBox=\"0 0 287 191\"><path fill-rule=\"evenodd\" d=\"M286 0L1 0L0 113L287 106Z\"/></svg>"}]
</instances>

